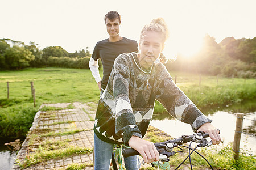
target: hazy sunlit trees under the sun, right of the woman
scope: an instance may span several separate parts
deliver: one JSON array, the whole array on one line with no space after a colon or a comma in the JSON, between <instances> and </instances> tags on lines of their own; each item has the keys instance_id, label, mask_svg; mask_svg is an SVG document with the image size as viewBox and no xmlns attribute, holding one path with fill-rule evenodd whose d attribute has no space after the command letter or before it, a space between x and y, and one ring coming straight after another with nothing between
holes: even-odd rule
<instances>
[{"instance_id":1,"label":"hazy sunlit trees under the sun, right of the woman","mask_svg":"<svg viewBox=\"0 0 256 170\"><path fill-rule=\"evenodd\" d=\"M256 37L226 37L218 44L214 37L205 35L203 41L198 53L189 58L178 54L175 61L166 63L167 69L226 77L256 78Z\"/></svg>"}]
</instances>

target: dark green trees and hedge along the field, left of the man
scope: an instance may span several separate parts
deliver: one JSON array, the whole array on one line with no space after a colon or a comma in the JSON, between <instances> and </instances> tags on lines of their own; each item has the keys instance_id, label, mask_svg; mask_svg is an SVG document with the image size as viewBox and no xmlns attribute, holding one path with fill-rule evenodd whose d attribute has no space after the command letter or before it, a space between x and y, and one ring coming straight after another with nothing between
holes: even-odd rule
<instances>
[{"instance_id":1,"label":"dark green trees and hedge along the field, left of the man","mask_svg":"<svg viewBox=\"0 0 256 170\"><path fill-rule=\"evenodd\" d=\"M0 39L0 68L1 70L20 70L26 67L65 67L89 69L90 52L81 49L69 53L61 46L48 46L43 50L38 44L11 39ZM100 62L100 67L101 67Z\"/></svg>"}]
</instances>

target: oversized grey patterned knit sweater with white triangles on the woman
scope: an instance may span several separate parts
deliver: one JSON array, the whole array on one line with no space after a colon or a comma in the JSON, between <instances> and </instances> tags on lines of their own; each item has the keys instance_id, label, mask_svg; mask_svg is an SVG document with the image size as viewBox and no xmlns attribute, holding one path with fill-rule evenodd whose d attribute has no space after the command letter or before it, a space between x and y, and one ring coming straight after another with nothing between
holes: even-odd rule
<instances>
[{"instance_id":1,"label":"oversized grey patterned knit sweater with white triangles on the woman","mask_svg":"<svg viewBox=\"0 0 256 170\"><path fill-rule=\"evenodd\" d=\"M193 131L212 122L175 85L162 63L154 62L150 72L143 71L133 52L120 54L115 59L108 85L98 103L94 133L102 141L125 145L132 135L144 137L155 100L171 116L191 124Z\"/></svg>"}]
</instances>

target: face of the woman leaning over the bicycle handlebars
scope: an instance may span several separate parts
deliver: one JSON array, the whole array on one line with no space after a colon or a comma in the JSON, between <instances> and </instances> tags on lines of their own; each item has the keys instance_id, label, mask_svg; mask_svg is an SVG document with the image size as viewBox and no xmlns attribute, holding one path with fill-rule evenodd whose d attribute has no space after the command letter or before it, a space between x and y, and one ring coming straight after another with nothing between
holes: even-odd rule
<instances>
[{"instance_id":1,"label":"face of the woman leaning over the bicycle handlebars","mask_svg":"<svg viewBox=\"0 0 256 170\"><path fill-rule=\"evenodd\" d=\"M156 31L144 32L144 37L139 42L139 63L142 67L150 67L163 50L163 36Z\"/></svg>"}]
</instances>

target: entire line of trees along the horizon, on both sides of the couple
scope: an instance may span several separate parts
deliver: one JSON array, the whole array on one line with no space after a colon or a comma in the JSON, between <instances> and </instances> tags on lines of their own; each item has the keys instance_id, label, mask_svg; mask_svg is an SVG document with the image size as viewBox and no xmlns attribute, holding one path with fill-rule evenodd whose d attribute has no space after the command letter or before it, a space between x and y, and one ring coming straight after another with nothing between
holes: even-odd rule
<instances>
[{"instance_id":1,"label":"entire line of trees along the horizon, on both sides of the couple","mask_svg":"<svg viewBox=\"0 0 256 170\"><path fill-rule=\"evenodd\" d=\"M169 60L166 63L167 69L226 77L256 78L256 37L227 37L218 44L214 37L205 35L203 44L199 52L192 57L187 58L178 54L175 60ZM35 42L26 45L20 41L0 39L1 70L47 66L89 69L90 56L88 48L69 53L61 46L48 46L40 50Z\"/></svg>"}]
</instances>

